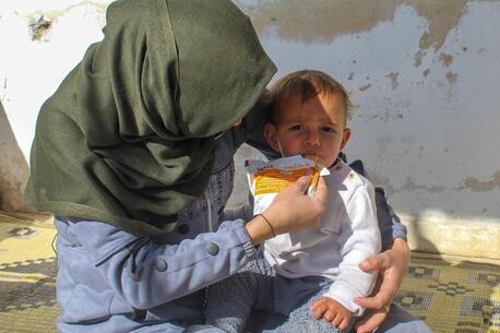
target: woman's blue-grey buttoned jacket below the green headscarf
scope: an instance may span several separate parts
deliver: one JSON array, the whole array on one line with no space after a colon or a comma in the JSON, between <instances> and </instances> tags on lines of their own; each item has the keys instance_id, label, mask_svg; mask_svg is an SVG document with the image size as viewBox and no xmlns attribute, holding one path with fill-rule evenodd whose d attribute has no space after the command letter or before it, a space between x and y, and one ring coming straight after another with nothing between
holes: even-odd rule
<instances>
[{"instance_id":1,"label":"woman's blue-grey buttoned jacket below the green headscarf","mask_svg":"<svg viewBox=\"0 0 500 333\"><path fill-rule=\"evenodd\" d=\"M245 127L217 140L210 185L170 234L139 238L103 222L55 218L59 332L181 332L187 322L202 320L204 287L235 274L258 252L245 222L223 217L233 158L245 141L263 148ZM377 209L384 248L406 238L381 189Z\"/></svg>"}]
</instances>

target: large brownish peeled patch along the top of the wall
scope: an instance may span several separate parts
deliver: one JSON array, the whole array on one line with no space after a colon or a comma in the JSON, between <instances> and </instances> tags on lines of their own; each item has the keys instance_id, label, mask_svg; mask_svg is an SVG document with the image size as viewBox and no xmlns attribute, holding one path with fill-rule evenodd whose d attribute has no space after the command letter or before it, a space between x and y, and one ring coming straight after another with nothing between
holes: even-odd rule
<instances>
[{"instance_id":1,"label":"large brownish peeled patch along the top of the wall","mask_svg":"<svg viewBox=\"0 0 500 333\"><path fill-rule=\"evenodd\" d=\"M238 2L245 3L245 0ZM398 5L406 4L428 22L428 29L420 37L415 67L421 64L426 50L440 49L449 32L454 28L464 12L467 0L277 0L258 1L250 9L253 24L260 34L275 32L277 38L303 44L331 43L343 35L369 32L380 23L392 21ZM248 7L247 7L248 8Z\"/></svg>"}]
</instances>

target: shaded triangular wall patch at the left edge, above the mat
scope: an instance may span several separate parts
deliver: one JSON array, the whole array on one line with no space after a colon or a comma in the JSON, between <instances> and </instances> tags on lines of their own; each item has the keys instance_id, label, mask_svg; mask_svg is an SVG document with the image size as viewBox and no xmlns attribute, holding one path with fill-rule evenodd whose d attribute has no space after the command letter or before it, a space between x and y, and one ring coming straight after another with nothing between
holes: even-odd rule
<instances>
[{"instance_id":1,"label":"shaded triangular wall patch at the left edge, above the mat","mask_svg":"<svg viewBox=\"0 0 500 333\"><path fill-rule=\"evenodd\" d=\"M0 210L14 213L34 213L36 210L23 202L23 192L29 168L9 124L0 102Z\"/></svg>"}]
</instances>

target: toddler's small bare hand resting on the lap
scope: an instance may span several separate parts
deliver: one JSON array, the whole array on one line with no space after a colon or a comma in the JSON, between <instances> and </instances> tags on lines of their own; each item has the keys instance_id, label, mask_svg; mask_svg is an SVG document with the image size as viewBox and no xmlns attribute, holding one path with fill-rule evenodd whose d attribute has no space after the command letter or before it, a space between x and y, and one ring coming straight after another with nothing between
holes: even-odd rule
<instances>
[{"instance_id":1,"label":"toddler's small bare hand resting on the lap","mask_svg":"<svg viewBox=\"0 0 500 333\"><path fill-rule=\"evenodd\" d=\"M318 299L312 304L309 310L314 313L316 319L323 318L341 331L347 329L350 317L353 316L349 310L330 297L322 297Z\"/></svg>"}]
</instances>

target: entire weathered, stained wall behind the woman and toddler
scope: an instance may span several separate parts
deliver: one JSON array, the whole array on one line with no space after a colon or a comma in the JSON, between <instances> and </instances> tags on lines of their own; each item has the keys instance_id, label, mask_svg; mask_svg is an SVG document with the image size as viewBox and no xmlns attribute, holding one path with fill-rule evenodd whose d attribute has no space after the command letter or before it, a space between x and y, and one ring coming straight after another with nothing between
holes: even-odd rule
<instances>
[{"instance_id":1,"label":"entire weathered, stained wall behind the woman and toddler","mask_svg":"<svg viewBox=\"0 0 500 333\"><path fill-rule=\"evenodd\" d=\"M37 2L0 2L0 97L26 157L40 104L100 38L109 1ZM500 225L500 1L236 3L276 78L318 69L349 91L346 153L362 158L397 212L417 223ZM253 154L243 148L238 166ZM238 192L234 203L246 199Z\"/></svg>"}]
</instances>

